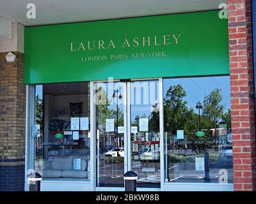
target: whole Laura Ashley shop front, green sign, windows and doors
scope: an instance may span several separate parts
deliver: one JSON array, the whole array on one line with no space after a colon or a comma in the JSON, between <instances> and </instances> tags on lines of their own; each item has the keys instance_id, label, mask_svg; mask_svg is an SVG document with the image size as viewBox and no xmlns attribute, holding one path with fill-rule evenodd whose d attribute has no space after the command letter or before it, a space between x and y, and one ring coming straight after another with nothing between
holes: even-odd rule
<instances>
[{"instance_id":1,"label":"whole Laura Ashley shop front, green sign, windows and doors","mask_svg":"<svg viewBox=\"0 0 256 204\"><path fill-rule=\"evenodd\" d=\"M218 12L26 27L26 176L42 191L124 191L130 170L138 191L233 191Z\"/></svg>"}]
</instances>

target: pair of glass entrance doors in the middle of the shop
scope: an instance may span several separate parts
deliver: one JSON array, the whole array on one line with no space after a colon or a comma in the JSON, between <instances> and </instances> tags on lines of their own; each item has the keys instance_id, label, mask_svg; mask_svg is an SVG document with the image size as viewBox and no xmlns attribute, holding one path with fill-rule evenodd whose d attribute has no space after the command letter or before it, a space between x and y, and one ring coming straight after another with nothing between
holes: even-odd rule
<instances>
[{"instance_id":1,"label":"pair of glass entrance doors in the middle of the shop","mask_svg":"<svg viewBox=\"0 0 256 204\"><path fill-rule=\"evenodd\" d=\"M126 102L127 101L127 102ZM159 80L95 83L97 187L160 187Z\"/></svg>"}]
</instances>

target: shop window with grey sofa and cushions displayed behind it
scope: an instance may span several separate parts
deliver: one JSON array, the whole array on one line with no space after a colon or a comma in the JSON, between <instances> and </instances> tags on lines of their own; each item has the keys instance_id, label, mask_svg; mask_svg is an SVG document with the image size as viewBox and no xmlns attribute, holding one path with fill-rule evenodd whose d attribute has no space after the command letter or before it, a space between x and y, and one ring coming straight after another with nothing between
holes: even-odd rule
<instances>
[{"instance_id":1,"label":"shop window with grey sofa and cushions displayed behind it","mask_svg":"<svg viewBox=\"0 0 256 204\"><path fill-rule=\"evenodd\" d=\"M36 85L35 94L35 171L49 180L90 180L90 83Z\"/></svg>"}]
</instances>

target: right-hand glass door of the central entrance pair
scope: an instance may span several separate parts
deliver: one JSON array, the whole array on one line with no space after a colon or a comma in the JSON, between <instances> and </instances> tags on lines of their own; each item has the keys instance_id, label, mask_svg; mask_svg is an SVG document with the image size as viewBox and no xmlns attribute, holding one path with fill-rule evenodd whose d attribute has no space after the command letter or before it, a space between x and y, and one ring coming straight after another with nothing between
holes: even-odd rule
<instances>
[{"instance_id":1,"label":"right-hand glass door of the central entrance pair","mask_svg":"<svg viewBox=\"0 0 256 204\"><path fill-rule=\"evenodd\" d=\"M159 80L129 85L131 170L138 187L160 187Z\"/></svg>"}]
</instances>

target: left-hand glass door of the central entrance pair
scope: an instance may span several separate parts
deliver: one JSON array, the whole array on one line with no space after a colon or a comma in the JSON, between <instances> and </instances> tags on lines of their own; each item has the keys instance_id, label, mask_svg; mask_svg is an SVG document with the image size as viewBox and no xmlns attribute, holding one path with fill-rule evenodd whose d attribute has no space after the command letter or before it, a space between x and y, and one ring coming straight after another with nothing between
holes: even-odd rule
<instances>
[{"instance_id":1,"label":"left-hand glass door of the central entrance pair","mask_svg":"<svg viewBox=\"0 0 256 204\"><path fill-rule=\"evenodd\" d=\"M124 187L125 85L95 84L97 187Z\"/></svg>"}]
</instances>

